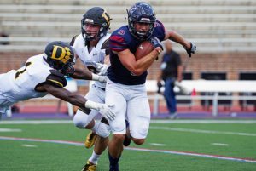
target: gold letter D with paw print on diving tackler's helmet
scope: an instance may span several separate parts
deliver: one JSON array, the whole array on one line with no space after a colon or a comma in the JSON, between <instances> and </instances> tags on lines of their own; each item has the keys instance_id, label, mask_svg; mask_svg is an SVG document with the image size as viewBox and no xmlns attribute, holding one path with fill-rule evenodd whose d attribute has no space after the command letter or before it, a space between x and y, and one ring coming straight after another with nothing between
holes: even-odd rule
<instances>
[{"instance_id":1,"label":"gold letter D with paw print on diving tackler's helmet","mask_svg":"<svg viewBox=\"0 0 256 171\"><path fill-rule=\"evenodd\" d=\"M52 55L51 55L51 59L53 60L61 60L64 64L67 63L67 60L71 59L71 51L69 48L65 47L61 47L61 46L57 46L54 45L53 51L52 51Z\"/></svg>"}]
</instances>

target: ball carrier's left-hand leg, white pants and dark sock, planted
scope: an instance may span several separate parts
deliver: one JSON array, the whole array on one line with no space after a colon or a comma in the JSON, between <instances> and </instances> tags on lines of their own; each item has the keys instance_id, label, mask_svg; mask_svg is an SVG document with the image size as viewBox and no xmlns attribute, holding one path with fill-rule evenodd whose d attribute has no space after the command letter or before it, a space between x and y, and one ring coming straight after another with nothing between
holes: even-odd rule
<instances>
[{"instance_id":1,"label":"ball carrier's left-hand leg, white pants and dark sock, planted","mask_svg":"<svg viewBox=\"0 0 256 171\"><path fill-rule=\"evenodd\" d=\"M110 162L110 170L119 170L119 158L123 151L123 141L125 139L125 113L126 100L123 96L124 88L119 87L119 84L107 84L106 104L114 105L113 112L116 117L110 121L111 131L113 133L112 139L108 143L108 159ZM114 98L113 98L114 97Z\"/></svg>"}]
</instances>

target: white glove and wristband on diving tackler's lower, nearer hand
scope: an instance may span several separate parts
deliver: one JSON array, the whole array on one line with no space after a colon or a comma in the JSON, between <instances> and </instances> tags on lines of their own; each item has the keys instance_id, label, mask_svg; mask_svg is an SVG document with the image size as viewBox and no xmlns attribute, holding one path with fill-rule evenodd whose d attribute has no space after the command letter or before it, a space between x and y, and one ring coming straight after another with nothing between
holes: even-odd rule
<instances>
[{"instance_id":1,"label":"white glove and wristband on diving tackler's lower, nearer hand","mask_svg":"<svg viewBox=\"0 0 256 171\"><path fill-rule=\"evenodd\" d=\"M115 118L115 113L110 109L113 107L113 105L96 103L90 100L87 100L84 105L86 108L95 109L96 111L99 111L102 114L102 116L108 119L109 121L113 121L113 119Z\"/></svg>"}]
</instances>

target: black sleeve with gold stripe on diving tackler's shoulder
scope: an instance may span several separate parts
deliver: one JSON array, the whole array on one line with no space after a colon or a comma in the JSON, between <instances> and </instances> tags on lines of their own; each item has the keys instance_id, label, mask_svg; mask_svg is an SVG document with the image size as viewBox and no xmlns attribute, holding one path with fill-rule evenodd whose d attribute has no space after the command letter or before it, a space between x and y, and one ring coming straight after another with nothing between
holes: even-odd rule
<instances>
[{"instance_id":1,"label":"black sleeve with gold stripe on diving tackler's shoulder","mask_svg":"<svg viewBox=\"0 0 256 171\"><path fill-rule=\"evenodd\" d=\"M50 70L49 76L46 78L45 83L49 83L57 88L64 88L67 86L67 80L59 71Z\"/></svg>"}]
</instances>

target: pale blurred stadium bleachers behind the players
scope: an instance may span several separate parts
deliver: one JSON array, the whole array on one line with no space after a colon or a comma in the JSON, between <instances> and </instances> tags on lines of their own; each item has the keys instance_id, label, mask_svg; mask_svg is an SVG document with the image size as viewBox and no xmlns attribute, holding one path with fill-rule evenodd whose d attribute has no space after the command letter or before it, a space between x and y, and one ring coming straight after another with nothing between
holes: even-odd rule
<instances>
[{"instance_id":1,"label":"pale blurred stadium bleachers behind the players","mask_svg":"<svg viewBox=\"0 0 256 171\"><path fill-rule=\"evenodd\" d=\"M111 31L126 23L125 9L136 1L1 1L1 31L9 34L9 47L23 50L31 43L40 50L52 39L67 41L80 31L80 19L86 9L102 6L111 14ZM146 1L147 2L147 1ZM179 31L198 45L198 52L255 52L256 1L253 0L161 0L150 1L157 17L167 29ZM16 38L15 38L16 37ZM37 48L36 48L37 47ZM181 47L175 47L182 51ZM212 50L214 49L214 50Z\"/></svg>"}]
</instances>

